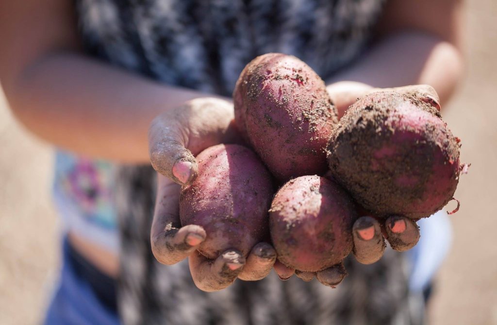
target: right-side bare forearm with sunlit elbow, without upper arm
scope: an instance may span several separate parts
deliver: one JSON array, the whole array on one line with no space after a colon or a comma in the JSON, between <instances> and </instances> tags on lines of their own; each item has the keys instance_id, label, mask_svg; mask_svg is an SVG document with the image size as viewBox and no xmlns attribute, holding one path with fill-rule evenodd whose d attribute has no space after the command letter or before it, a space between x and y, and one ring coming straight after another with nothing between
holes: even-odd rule
<instances>
[{"instance_id":1,"label":"right-side bare forearm with sunlit elbow, without upper arm","mask_svg":"<svg viewBox=\"0 0 497 325\"><path fill-rule=\"evenodd\" d=\"M357 81L380 88L427 84L435 88L443 104L462 74L463 59L454 45L437 36L404 31L371 47L329 83Z\"/></svg>"}]
</instances>

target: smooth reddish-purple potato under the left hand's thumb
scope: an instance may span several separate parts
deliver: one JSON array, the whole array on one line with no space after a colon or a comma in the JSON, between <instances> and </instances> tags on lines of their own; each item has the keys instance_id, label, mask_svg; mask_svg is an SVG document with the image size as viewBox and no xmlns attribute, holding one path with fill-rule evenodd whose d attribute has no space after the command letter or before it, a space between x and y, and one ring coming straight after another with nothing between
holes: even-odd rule
<instances>
[{"instance_id":1,"label":"smooth reddish-purple potato under the left hand's thumb","mask_svg":"<svg viewBox=\"0 0 497 325\"><path fill-rule=\"evenodd\" d=\"M241 145L219 144L196 158L198 175L179 197L181 225L204 227L207 238L198 251L210 259L227 249L247 256L268 237L271 175L255 153Z\"/></svg>"}]
</instances>

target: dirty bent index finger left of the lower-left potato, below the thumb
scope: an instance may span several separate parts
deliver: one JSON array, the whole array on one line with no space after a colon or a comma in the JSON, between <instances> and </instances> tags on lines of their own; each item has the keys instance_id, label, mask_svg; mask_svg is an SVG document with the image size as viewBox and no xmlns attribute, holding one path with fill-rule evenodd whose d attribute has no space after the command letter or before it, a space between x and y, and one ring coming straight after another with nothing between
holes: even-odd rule
<instances>
[{"instance_id":1,"label":"dirty bent index finger left of the lower-left potato, below the thumb","mask_svg":"<svg viewBox=\"0 0 497 325\"><path fill-rule=\"evenodd\" d=\"M157 199L150 232L152 253L167 265L177 263L205 240L205 230L190 224L181 227L179 222L179 186L158 175Z\"/></svg>"}]
</instances>

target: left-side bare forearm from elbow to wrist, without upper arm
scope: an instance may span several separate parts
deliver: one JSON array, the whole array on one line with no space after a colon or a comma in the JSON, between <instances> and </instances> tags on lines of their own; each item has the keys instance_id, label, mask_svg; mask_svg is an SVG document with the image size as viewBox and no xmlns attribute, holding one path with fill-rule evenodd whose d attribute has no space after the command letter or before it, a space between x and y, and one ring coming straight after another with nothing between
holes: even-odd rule
<instances>
[{"instance_id":1,"label":"left-side bare forearm from elbow to wrist, without upper arm","mask_svg":"<svg viewBox=\"0 0 497 325\"><path fill-rule=\"evenodd\" d=\"M23 71L7 99L41 138L121 162L148 162L147 132L161 112L205 94L168 87L78 54L49 55Z\"/></svg>"}]
</instances>

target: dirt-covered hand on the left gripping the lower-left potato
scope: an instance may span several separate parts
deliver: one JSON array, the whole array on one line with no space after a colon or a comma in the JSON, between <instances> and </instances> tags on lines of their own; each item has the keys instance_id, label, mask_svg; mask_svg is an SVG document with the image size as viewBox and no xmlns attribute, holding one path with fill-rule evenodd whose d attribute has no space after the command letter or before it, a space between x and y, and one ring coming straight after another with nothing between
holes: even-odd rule
<instances>
[{"instance_id":1,"label":"dirt-covered hand on the left gripping the lower-left potato","mask_svg":"<svg viewBox=\"0 0 497 325\"><path fill-rule=\"evenodd\" d=\"M205 230L192 224L182 227L179 221L180 185L190 184L197 174L194 156L219 143L241 142L233 105L221 99L192 100L159 115L150 126L150 157L159 172L152 251L167 265L188 257L193 281L203 291L224 289L237 278L260 280L269 274L276 260L274 248L267 243L256 244L247 258L227 250L216 260L208 260L196 251L206 238Z\"/></svg>"}]
</instances>

